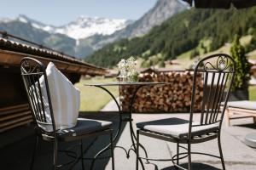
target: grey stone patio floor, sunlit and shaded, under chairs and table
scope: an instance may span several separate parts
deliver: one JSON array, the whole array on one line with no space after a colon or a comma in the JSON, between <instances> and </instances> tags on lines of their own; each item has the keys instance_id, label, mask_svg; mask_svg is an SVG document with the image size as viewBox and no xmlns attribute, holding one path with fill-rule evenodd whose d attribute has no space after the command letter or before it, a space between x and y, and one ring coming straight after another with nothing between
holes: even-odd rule
<instances>
[{"instance_id":1,"label":"grey stone patio floor, sunlit and shaded, under chairs and table","mask_svg":"<svg viewBox=\"0 0 256 170\"><path fill-rule=\"evenodd\" d=\"M96 118L102 120L112 121L114 124L114 129L118 125L118 115L112 113L82 113L84 117ZM166 117L180 117L188 118L188 114L134 114L134 122L144 122L154 119L166 118ZM256 169L256 150L248 147L243 143L244 136L247 133L256 133L256 126L253 125L253 120L251 118L240 119L232 121L234 126L226 127L224 125L222 129L222 146L224 152L224 160L226 169L232 170L255 170ZM26 138L19 139L19 136L23 134ZM22 136L22 135L21 135ZM3 139L5 138L5 139ZM8 144L9 139L19 139L18 142ZM9 133L0 135L2 145L4 147L0 148L0 169L8 170L22 170L28 169L30 163L30 157L32 154L32 147L34 144L34 136L32 133L32 127L20 127L12 130ZM84 139L84 145L90 144L91 139ZM92 156L96 153L97 150L102 148L102 145L106 144L109 141L107 137L100 137L96 140L96 143L89 150L88 156ZM176 151L176 144L168 143L166 141L161 141L158 139L151 139L148 137L141 137L141 143L148 150L149 157L167 159L170 158ZM7 145L6 145L7 144ZM74 143L70 143L71 145ZM67 147L70 144L61 144L61 147ZM131 139L129 133L129 126L125 124L122 127L121 135L117 140L117 145L124 146L126 149L131 146ZM36 158L36 163L34 169L50 169L50 163L52 159L51 154L51 143L49 142L40 142L40 148L38 151L38 156ZM218 155L218 144L217 140L212 140L211 142L203 144L193 144L192 151L207 151L211 154ZM141 152L143 153L143 151ZM108 154L108 153L106 153ZM125 156L125 151L119 148L114 150L115 157L115 169L117 170L134 170L135 169L135 154L131 152L131 157L129 159ZM194 169L207 169L207 170L216 170L221 169L221 163L218 159L208 157L208 156L192 156L193 167ZM67 161L67 156L61 156L60 161ZM185 164L187 160L184 159ZM90 161L84 161L86 169L90 166ZM171 161L152 161L151 164L144 164L147 170L171 170L174 169ZM73 169L81 169L81 164L78 163ZM95 168L97 170L111 169L111 161L101 160L96 161Z\"/></svg>"}]
</instances>

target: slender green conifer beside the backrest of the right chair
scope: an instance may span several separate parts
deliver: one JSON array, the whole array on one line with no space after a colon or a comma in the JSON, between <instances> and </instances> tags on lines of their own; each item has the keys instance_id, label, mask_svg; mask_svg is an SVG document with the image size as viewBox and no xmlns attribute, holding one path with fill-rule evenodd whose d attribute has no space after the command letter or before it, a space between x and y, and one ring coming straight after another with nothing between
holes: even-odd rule
<instances>
[{"instance_id":1,"label":"slender green conifer beside the backrest of the right chair","mask_svg":"<svg viewBox=\"0 0 256 170\"><path fill-rule=\"evenodd\" d=\"M236 73L232 91L238 89L247 90L250 79L250 66L245 55L245 48L241 45L239 38L238 35L235 36L230 48L231 56L236 62Z\"/></svg>"}]
</instances>

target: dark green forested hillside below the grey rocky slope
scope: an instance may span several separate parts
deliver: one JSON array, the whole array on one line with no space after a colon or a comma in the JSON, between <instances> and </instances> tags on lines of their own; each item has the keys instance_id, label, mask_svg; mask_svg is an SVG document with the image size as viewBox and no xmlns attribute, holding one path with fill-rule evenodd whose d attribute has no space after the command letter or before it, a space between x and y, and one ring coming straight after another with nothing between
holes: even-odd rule
<instances>
[{"instance_id":1,"label":"dark green forested hillside below the grey rocky slope","mask_svg":"<svg viewBox=\"0 0 256 170\"><path fill-rule=\"evenodd\" d=\"M86 61L109 67L131 55L148 59L161 54L164 60L176 59L178 55L198 47L203 53L208 53L230 42L235 34L245 36L250 29L256 28L255 16L256 7L240 10L192 8L154 27L144 37L108 44Z\"/></svg>"}]
</instances>

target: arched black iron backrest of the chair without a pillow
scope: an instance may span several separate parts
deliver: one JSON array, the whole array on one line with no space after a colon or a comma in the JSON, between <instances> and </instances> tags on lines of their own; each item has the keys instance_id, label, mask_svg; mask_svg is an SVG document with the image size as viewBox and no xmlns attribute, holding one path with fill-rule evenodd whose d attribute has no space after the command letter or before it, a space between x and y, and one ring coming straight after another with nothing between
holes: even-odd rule
<instances>
[{"instance_id":1,"label":"arched black iron backrest of the chair without a pillow","mask_svg":"<svg viewBox=\"0 0 256 170\"><path fill-rule=\"evenodd\" d=\"M227 54L213 54L201 59L195 66L190 107L190 133L191 127L195 126L219 122L221 127L235 70L236 63ZM192 124L195 110L201 111L198 125Z\"/></svg>"}]
</instances>

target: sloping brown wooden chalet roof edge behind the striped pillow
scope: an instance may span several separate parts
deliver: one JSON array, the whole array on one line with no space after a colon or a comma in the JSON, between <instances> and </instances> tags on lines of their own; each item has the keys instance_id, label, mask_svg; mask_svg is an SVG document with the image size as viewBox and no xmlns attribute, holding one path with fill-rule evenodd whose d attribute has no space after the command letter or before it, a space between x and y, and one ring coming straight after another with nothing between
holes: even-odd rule
<instances>
[{"instance_id":1,"label":"sloping brown wooden chalet roof edge behind the striped pillow","mask_svg":"<svg viewBox=\"0 0 256 170\"><path fill-rule=\"evenodd\" d=\"M43 47L43 46L42 46ZM18 66L20 59L30 56L41 60L45 65L53 61L62 71L75 72L82 75L105 75L107 71L96 65L90 65L67 54L58 53L50 48L33 47L26 43L11 41L0 37L0 65Z\"/></svg>"}]
</instances>

